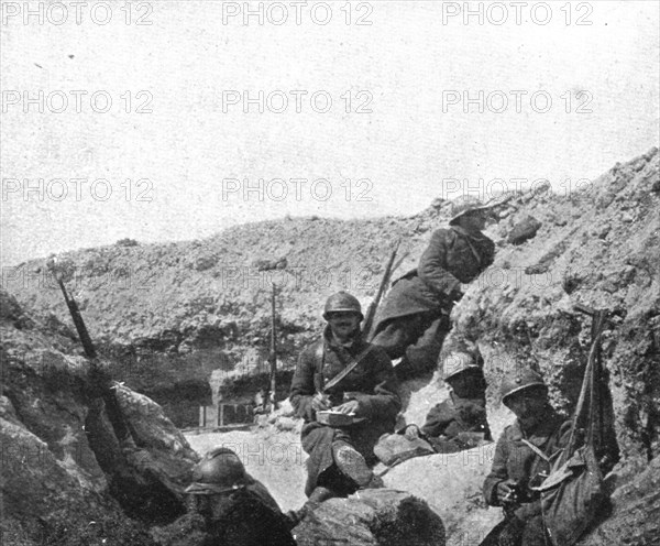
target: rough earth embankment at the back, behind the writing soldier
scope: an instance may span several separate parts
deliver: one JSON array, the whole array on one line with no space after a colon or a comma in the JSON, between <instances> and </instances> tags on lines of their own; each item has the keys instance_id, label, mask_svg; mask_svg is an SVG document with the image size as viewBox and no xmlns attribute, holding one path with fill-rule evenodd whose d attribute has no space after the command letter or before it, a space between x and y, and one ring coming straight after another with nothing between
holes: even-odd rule
<instances>
[{"instance_id":1,"label":"rough earth embankment at the back, behind the writing soldier","mask_svg":"<svg viewBox=\"0 0 660 546\"><path fill-rule=\"evenodd\" d=\"M402 237L402 252L409 252L403 271L449 207L438 201L410 218L250 223L202 241L69 252L58 263L92 338L116 362L113 375L162 404L179 426L191 426L196 406L211 403L213 371L228 385L226 397L237 394L237 375L267 384L273 284L285 385L299 351L318 336L324 298L348 290L366 306L394 241ZM6 287L44 321L69 324L44 261L8 271ZM75 338L72 328L62 329Z\"/></svg>"}]
</instances>

